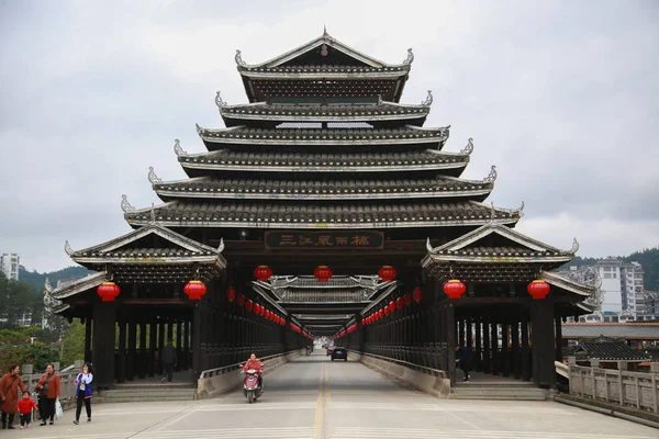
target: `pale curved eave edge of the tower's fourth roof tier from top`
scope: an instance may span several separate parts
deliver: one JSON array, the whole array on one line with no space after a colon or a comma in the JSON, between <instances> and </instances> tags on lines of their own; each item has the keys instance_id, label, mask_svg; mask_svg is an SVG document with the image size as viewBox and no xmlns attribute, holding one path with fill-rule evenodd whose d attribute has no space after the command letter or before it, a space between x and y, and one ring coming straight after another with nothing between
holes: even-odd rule
<instances>
[{"instance_id":1,"label":"pale curved eave edge of the tower's fourth roof tier from top","mask_svg":"<svg viewBox=\"0 0 659 439\"><path fill-rule=\"evenodd\" d=\"M391 165L391 166L308 166L308 165L228 165L181 161L183 169L227 170L227 171L258 171L258 172L382 172L382 171L422 171L466 168L467 161L450 164L418 164L418 165Z\"/></svg>"}]
</instances>

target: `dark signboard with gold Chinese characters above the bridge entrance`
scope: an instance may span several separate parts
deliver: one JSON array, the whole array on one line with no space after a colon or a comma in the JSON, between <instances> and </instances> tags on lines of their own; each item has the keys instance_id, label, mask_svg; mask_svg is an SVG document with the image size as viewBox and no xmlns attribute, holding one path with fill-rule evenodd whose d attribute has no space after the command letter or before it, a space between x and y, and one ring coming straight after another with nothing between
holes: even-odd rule
<instances>
[{"instance_id":1,"label":"dark signboard with gold Chinese characters above the bridge entrance","mask_svg":"<svg viewBox=\"0 0 659 439\"><path fill-rule=\"evenodd\" d=\"M382 232L266 232L266 249L382 249Z\"/></svg>"}]
</instances>

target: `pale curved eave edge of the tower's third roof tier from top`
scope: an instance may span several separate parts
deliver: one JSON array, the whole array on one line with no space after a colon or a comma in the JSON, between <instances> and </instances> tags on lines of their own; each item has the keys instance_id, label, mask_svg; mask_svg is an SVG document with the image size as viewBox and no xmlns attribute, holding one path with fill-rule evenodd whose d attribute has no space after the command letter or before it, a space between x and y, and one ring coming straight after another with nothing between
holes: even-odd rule
<instances>
[{"instance_id":1,"label":"pale curved eave edge of the tower's third roof tier from top","mask_svg":"<svg viewBox=\"0 0 659 439\"><path fill-rule=\"evenodd\" d=\"M213 137L209 135L200 135L204 145L209 148L217 145L418 145L418 144L437 144L444 146L448 139L448 135L434 135L427 137L395 137L395 138L323 138L323 139L302 139L302 138L256 138L256 137Z\"/></svg>"}]
</instances>

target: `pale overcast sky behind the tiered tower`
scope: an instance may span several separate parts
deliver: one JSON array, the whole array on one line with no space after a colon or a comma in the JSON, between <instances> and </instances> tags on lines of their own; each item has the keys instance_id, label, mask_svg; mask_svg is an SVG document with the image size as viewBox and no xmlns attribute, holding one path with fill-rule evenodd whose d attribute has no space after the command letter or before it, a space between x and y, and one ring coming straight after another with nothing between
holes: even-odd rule
<instances>
[{"instance_id":1,"label":"pale overcast sky behind the tiered tower","mask_svg":"<svg viewBox=\"0 0 659 439\"><path fill-rule=\"evenodd\" d=\"M390 4L390 5L388 5ZM159 203L148 167L185 178L174 139L223 127L215 91L246 102L257 64L322 34L415 60L402 102L469 137L463 177L525 202L517 229L581 256L659 244L659 2L0 0L0 252L40 271L130 230L121 194Z\"/></svg>"}]
</instances>

